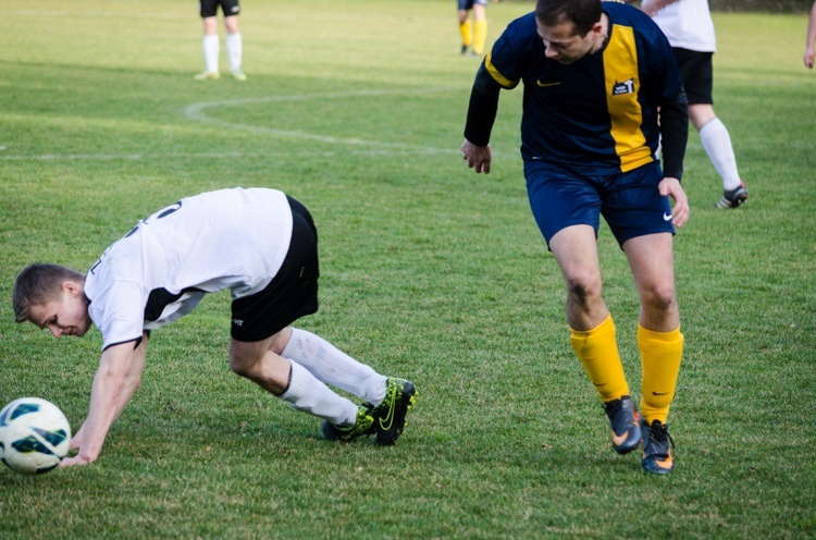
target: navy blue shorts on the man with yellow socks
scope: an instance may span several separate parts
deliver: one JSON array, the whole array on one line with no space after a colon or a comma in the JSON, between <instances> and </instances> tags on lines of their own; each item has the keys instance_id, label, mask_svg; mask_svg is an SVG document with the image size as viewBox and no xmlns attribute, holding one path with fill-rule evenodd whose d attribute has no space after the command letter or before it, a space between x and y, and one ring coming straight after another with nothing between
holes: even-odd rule
<instances>
[{"instance_id":1,"label":"navy blue shorts on the man with yellow socks","mask_svg":"<svg viewBox=\"0 0 816 540\"><path fill-rule=\"evenodd\" d=\"M654 233L675 234L671 205L657 184L658 163L629 172L593 176L539 160L524 161L524 177L535 222L549 241L571 225L591 225L597 236L601 216L620 246Z\"/></svg>"}]
</instances>

